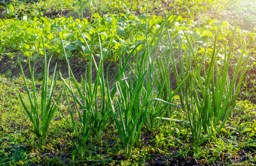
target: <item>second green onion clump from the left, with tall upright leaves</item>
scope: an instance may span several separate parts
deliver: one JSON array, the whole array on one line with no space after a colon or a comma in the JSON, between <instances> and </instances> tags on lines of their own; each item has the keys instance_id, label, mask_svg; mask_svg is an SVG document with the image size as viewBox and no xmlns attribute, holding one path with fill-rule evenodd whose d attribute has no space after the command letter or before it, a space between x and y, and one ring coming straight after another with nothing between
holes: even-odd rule
<instances>
[{"instance_id":1,"label":"second green onion clump from the left, with tall upright leaves","mask_svg":"<svg viewBox=\"0 0 256 166\"><path fill-rule=\"evenodd\" d=\"M79 28L79 27L78 27ZM80 30L80 29L79 29ZM82 32L80 31L81 35ZM100 37L98 36L100 41ZM85 150L86 150L86 140L88 140L90 133L92 131L93 135L95 136L95 140L97 143L102 141L102 133L104 131L104 127L106 126L109 117L111 116L111 109L110 109L110 102L107 98L107 89L105 88L105 78L104 78L104 66L103 62L106 57L106 53L103 55L102 48L100 44L100 63L97 64L95 58L93 57L93 43L95 38L93 37L91 48L89 44L87 44L86 40L84 39L84 43L86 44L87 48L90 50L89 56L89 74L87 79L87 69L85 71L85 79L81 77L81 84L82 87L78 84L73 72L71 71L71 67L68 62L68 58L66 56L66 51L64 50L64 55L66 59L66 63L68 65L68 73L69 73L69 84L66 83L64 78L61 76L62 81L65 85L65 95L66 90L71 93L73 96L73 100L75 102L75 109L79 115L79 124L82 126L82 136L80 136L79 131L77 129L77 124L73 118L73 112L71 107L69 106L68 98L66 97L66 101L68 102L68 110L71 115L71 128L75 132L75 136L78 140L78 146L75 149L78 154L80 154L80 158L84 158ZM62 43L63 49L64 45ZM95 71L97 73L95 82L92 82L92 66L94 65ZM75 89L72 87L71 82L75 84ZM75 94L77 91L78 95ZM98 95L100 94L100 96ZM82 113L80 113L82 111ZM67 119L66 119L67 120ZM76 146L75 146L76 147ZM75 154L75 152L74 152Z\"/></svg>"}]
</instances>

